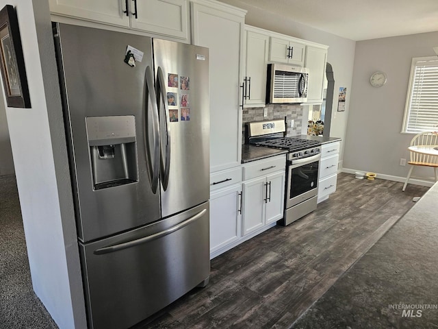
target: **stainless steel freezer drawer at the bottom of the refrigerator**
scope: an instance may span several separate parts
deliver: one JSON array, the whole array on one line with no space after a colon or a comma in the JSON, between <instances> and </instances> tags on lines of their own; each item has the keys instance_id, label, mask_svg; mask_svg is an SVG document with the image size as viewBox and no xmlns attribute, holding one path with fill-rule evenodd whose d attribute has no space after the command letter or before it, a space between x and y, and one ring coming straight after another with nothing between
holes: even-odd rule
<instances>
[{"instance_id":1,"label":"stainless steel freezer drawer at the bottom of the refrigerator","mask_svg":"<svg viewBox=\"0 0 438 329\"><path fill-rule=\"evenodd\" d=\"M209 278L209 203L79 243L90 328L129 328Z\"/></svg>"}]
</instances>

